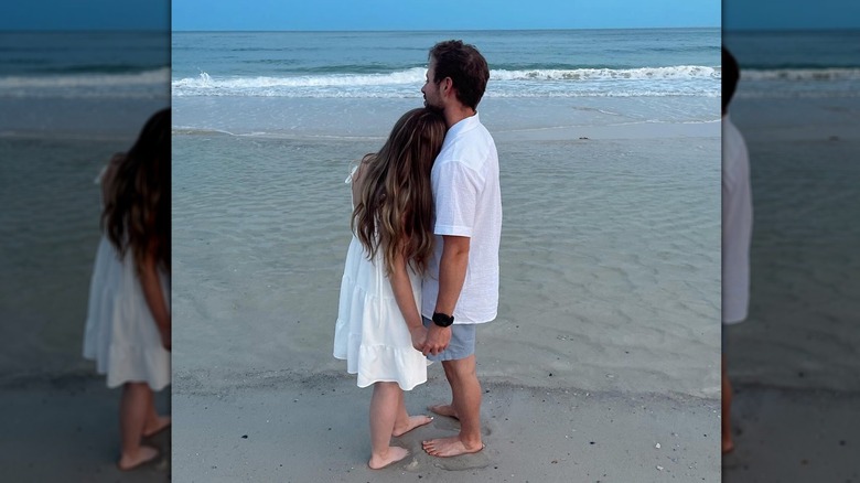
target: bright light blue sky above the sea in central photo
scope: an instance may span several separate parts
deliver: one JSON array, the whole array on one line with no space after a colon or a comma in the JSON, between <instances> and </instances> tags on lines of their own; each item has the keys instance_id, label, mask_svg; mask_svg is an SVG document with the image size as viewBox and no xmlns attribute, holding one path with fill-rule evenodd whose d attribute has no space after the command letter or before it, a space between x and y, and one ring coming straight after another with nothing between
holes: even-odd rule
<instances>
[{"instance_id":1,"label":"bright light blue sky above the sea in central photo","mask_svg":"<svg viewBox=\"0 0 860 483\"><path fill-rule=\"evenodd\" d=\"M173 0L173 30L719 26L720 0Z\"/></svg>"}]
</instances>

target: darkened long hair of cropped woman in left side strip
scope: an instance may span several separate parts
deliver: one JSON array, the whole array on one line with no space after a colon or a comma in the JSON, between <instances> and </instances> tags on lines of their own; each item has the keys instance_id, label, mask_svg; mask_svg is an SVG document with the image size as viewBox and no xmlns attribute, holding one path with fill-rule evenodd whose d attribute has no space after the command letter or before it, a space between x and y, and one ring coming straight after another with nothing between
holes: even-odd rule
<instances>
[{"instance_id":1,"label":"darkened long hair of cropped woman in left side strip","mask_svg":"<svg viewBox=\"0 0 860 483\"><path fill-rule=\"evenodd\" d=\"M149 118L106 187L101 229L120 256L170 271L170 109Z\"/></svg>"}]
</instances>

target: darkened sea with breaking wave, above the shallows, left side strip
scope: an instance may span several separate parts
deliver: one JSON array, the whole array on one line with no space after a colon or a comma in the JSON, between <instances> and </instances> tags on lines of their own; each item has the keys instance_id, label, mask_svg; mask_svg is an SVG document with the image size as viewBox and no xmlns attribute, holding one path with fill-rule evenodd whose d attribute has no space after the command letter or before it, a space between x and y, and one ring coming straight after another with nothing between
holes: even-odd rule
<instances>
[{"instance_id":1,"label":"darkened sea with breaking wave, above the shallows, left side strip","mask_svg":"<svg viewBox=\"0 0 860 483\"><path fill-rule=\"evenodd\" d=\"M169 79L165 32L0 32L0 136L126 138Z\"/></svg>"}]
</instances>

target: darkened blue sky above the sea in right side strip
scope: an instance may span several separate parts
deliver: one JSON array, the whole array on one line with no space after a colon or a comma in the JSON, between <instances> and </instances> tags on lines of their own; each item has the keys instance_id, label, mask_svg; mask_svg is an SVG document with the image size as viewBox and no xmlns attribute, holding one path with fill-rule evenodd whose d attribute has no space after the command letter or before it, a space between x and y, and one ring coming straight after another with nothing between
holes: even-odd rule
<instances>
[{"instance_id":1,"label":"darkened blue sky above the sea in right side strip","mask_svg":"<svg viewBox=\"0 0 860 483\"><path fill-rule=\"evenodd\" d=\"M723 29L860 29L860 0L723 0Z\"/></svg>"}]
</instances>

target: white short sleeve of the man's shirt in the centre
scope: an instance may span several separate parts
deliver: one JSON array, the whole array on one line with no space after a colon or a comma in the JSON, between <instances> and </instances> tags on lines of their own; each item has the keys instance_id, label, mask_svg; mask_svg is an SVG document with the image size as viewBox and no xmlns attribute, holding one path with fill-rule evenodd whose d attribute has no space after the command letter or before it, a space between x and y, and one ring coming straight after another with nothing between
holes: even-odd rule
<instances>
[{"instance_id":1,"label":"white short sleeve of the man's shirt in the centre","mask_svg":"<svg viewBox=\"0 0 860 483\"><path fill-rule=\"evenodd\" d=\"M464 163L449 161L440 167L433 180L437 235L472 237L480 176Z\"/></svg>"}]
</instances>

